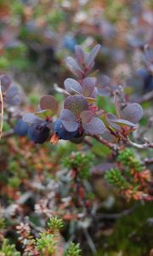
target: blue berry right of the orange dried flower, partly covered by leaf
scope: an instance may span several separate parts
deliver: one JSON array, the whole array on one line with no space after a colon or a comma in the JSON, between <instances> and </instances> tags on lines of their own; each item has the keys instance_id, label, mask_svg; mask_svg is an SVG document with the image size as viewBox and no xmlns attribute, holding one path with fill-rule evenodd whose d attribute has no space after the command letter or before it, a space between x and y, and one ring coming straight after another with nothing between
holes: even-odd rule
<instances>
[{"instance_id":1,"label":"blue berry right of the orange dried flower, partly covered by leaf","mask_svg":"<svg viewBox=\"0 0 153 256\"><path fill-rule=\"evenodd\" d=\"M60 119L57 119L54 123L54 131L59 136L59 139L62 140L70 140L72 137L77 135L78 131L66 131L64 125L62 124Z\"/></svg>"}]
</instances>

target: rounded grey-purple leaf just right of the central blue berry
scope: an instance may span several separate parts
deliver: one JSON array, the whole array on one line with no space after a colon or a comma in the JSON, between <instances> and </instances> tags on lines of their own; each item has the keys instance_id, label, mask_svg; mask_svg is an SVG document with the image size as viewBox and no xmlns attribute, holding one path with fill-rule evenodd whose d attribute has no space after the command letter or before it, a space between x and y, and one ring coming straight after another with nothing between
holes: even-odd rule
<instances>
[{"instance_id":1,"label":"rounded grey-purple leaf just right of the central blue berry","mask_svg":"<svg viewBox=\"0 0 153 256\"><path fill-rule=\"evenodd\" d=\"M82 128L86 134L100 135L105 132L105 124L99 118L94 117L87 124L82 124Z\"/></svg>"}]
</instances>

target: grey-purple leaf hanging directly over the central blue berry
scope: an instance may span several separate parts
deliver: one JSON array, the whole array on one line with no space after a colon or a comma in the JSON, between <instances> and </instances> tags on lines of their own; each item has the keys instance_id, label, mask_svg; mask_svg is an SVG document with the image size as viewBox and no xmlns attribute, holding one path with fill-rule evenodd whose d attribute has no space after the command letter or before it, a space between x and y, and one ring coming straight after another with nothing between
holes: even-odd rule
<instances>
[{"instance_id":1,"label":"grey-purple leaf hanging directly over the central blue berry","mask_svg":"<svg viewBox=\"0 0 153 256\"><path fill-rule=\"evenodd\" d=\"M60 119L62 124L65 126L66 131L77 131L78 123L76 116L69 109L63 109L60 113Z\"/></svg>"}]
</instances>

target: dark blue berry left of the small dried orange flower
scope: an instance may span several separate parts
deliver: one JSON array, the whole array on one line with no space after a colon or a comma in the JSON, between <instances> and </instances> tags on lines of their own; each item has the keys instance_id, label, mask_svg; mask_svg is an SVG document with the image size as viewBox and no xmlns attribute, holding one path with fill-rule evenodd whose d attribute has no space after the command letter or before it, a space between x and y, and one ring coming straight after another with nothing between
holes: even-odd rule
<instances>
[{"instance_id":1,"label":"dark blue berry left of the small dried orange flower","mask_svg":"<svg viewBox=\"0 0 153 256\"><path fill-rule=\"evenodd\" d=\"M47 127L48 122L43 122L41 124L33 124L28 129L28 137L32 142L42 144L48 137L50 130Z\"/></svg>"}]
</instances>

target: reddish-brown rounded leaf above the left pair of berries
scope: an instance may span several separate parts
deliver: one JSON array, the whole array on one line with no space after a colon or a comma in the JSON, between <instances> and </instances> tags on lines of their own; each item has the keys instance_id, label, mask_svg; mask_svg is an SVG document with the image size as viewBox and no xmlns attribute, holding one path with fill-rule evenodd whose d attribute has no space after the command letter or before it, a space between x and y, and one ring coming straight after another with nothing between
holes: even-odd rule
<instances>
[{"instance_id":1,"label":"reddish-brown rounded leaf above the left pair of berries","mask_svg":"<svg viewBox=\"0 0 153 256\"><path fill-rule=\"evenodd\" d=\"M58 102L55 100L54 96L45 95L42 96L40 101L40 108L43 109L51 109L52 114L56 113L58 110Z\"/></svg>"}]
</instances>

